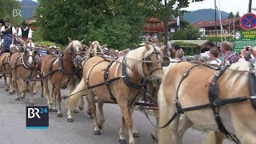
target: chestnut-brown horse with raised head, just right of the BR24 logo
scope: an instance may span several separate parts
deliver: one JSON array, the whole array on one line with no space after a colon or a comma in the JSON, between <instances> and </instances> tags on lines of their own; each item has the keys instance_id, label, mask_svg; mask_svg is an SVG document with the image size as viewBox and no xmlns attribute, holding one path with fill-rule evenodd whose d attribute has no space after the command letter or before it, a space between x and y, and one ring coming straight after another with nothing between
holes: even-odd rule
<instances>
[{"instance_id":1,"label":"chestnut-brown horse with raised head, just right of the BR24 logo","mask_svg":"<svg viewBox=\"0 0 256 144\"><path fill-rule=\"evenodd\" d=\"M69 38L69 45L58 58L53 55L47 55L42 59L41 73L49 111L58 112L58 117L62 117L61 89L67 88L68 94L70 94L76 85L76 81L79 79L78 70L74 66L74 59L79 56L79 52L82 49L82 42L83 40L79 42ZM52 102L52 98L54 98L54 103ZM56 109L56 98L58 100L58 110Z\"/></svg>"}]
</instances>

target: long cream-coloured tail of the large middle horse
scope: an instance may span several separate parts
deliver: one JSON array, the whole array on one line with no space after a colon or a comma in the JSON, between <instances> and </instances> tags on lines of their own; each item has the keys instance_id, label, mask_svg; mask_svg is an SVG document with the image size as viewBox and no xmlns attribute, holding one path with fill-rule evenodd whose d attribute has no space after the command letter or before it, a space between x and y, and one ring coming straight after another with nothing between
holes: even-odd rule
<instances>
[{"instance_id":1,"label":"long cream-coloured tail of the large middle horse","mask_svg":"<svg viewBox=\"0 0 256 144\"><path fill-rule=\"evenodd\" d=\"M71 110L74 110L74 108L78 105L78 100L84 94L85 87L86 87L86 83L84 81L84 78L82 78L78 86L76 86L74 91L70 94L70 98L68 98L67 100L67 106Z\"/></svg>"}]
</instances>

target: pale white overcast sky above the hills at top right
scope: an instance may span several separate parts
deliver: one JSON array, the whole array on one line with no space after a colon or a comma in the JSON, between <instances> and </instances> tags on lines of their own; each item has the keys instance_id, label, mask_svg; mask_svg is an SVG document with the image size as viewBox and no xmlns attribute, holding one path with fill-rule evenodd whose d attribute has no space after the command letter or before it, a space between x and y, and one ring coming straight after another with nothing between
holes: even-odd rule
<instances>
[{"instance_id":1,"label":"pale white overcast sky above the hills at top right","mask_svg":"<svg viewBox=\"0 0 256 144\"><path fill-rule=\"evenodd\" d=\"M191 0L190 0L191 1ZM236 14L239 11L240 16L248 11L249 0L216 0L218 10ZM203 2L191 2L185 10L214 9L214 0L204 0ZM256 8L256 0L252 0L252 8ZM255 14L256 11L252 10Z\"/></svg>"}]
</instances>

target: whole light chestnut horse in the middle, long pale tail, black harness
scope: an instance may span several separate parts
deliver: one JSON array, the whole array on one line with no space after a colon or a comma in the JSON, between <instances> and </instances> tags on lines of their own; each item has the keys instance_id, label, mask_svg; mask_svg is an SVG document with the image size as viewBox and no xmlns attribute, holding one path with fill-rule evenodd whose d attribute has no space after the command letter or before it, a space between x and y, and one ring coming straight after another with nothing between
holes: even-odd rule
<instances>
[{"instance_id":1,"label":"whole light chestnut horse in the middle, long pale tail, black harness","mask_svg":"<svg viewBox=\"0 0 256 144\"><path fill-rule=\"evenodd\" d=\"M161 48L150 46L146 42L145 46L131 50L123 62L108 62L99 56L87 60L83 67L82 81L68 99L68 121L70 120L70 110L74 109L86 89L94 117L94 134L101 134L100 128L104 122L101 118L98 122L96 117L94 96L97 96L105 102L114 102L120 106L122 126L119 130L119 142L126 142L124 136L126 126L129 131L129 142L135 143L132 131L133 121L129 111L134 106L134 102L140 98L138 92L142 90L143 78L152 81L154 86L160 85L162 81L162 50L164 48L165 46Z\"/></svg>"}]
</instances>

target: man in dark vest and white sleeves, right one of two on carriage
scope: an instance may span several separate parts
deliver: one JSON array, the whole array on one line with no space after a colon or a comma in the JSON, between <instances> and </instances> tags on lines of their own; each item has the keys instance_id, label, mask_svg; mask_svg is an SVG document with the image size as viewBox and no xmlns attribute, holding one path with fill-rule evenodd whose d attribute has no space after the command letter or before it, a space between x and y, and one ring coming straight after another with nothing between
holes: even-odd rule
<instances>
[{"instance_id":1,"label":"man in dark vest and white sleeves, right one of two on carriage","mask_svg":"<svg viewBox=\"0 0 256 144\"><path fill-rule=\"evenodd\" d=\"M22 27L18 28L18 37L22 38L26 43L32 38L32 30L27 26L26 22L22 22Z\"/></svg>"}]
</instances>

